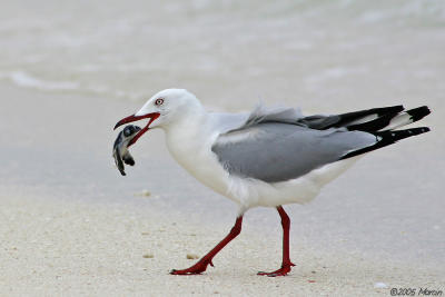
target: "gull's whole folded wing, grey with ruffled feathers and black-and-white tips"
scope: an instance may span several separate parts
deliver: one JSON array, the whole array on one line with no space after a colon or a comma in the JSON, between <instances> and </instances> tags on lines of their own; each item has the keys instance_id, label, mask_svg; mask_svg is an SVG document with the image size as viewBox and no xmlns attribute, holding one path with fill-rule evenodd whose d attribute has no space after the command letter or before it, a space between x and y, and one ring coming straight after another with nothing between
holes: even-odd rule
<instances>
[{"instance_id":1,"label":"gull's whole folded wing, grey with ruffled feathers and black-and-white tips","mask_svg":"<svg viewBox=\"0 0 445 297\"><path fill-rule=\"evenodd\" d=\"M402 106L395 106L303 117L295 109L259 108L243 126L219 135L211 150L231 175L266 182L286 181L429 130L385 130L395 122L403 126L429 113L426 107L402 111Z\"/></svg>"}]
</instances>

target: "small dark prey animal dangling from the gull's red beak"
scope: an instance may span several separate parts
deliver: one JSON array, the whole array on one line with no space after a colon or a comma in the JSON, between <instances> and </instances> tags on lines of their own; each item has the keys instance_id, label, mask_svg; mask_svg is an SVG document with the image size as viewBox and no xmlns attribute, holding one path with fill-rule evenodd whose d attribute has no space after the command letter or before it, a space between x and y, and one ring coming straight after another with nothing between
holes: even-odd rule
<instances>
[{"instance_id":1,"label":"small dark prey animal dangling from the gull's red beak","mask_svg":"<svg viewBox=\"0 0 445 297\"><path fill-rule=\"evenodd\" d=\"M131 139L135 138L137 132L140 131L140 127L135 125L128 125L118 133L116 138L115 145L112 147L112 157L115 158L116 166L118 167L120 174L122 176L126 175L123 171L126 165L134 166L135 159L131 157L130 152L128 151L128 143ZM123 160L123 162L122 162Z\"/></svg>"}]
</instances>

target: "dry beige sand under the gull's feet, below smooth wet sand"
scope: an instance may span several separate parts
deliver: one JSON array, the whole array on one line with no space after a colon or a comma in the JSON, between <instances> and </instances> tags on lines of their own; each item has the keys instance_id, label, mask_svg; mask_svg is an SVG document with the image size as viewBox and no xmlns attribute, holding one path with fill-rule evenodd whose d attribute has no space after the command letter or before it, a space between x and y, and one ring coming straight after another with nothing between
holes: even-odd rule
<instances>
[{"instance_id":1,"label":"dry beige sand under the gull's feet, below smooth wet sand","mask_svg":"<svg viewBox=\"0 0 445 297\"><path fill-rule=\"evenodd\" d=\"M248 228L205 275L170 276L226 230L120 204L0 198L2 296L389 296L390 288L443 289L445 281L439 269L308 248L293 249L288 277L258 277L279 265L279 240Z\"/></svg>"}]
</instances>

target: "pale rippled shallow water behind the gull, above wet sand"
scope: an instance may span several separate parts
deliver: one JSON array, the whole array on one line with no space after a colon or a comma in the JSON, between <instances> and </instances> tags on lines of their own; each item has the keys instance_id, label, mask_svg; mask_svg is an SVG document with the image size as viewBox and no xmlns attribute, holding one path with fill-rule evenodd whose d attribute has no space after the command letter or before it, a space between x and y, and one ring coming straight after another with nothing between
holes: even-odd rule
<instances>
[{"instance_id":1,"label":"pale rippled shallow water behind the gull, above wet sand","mask_svg":"<svg viewBox=\"0 0 445 297\"><path fill-rule=\"evenodd\" d=\"M0 77L20 87L326 111L445 90L442 0L2 2Z\"/></svg>"}]
</instances>

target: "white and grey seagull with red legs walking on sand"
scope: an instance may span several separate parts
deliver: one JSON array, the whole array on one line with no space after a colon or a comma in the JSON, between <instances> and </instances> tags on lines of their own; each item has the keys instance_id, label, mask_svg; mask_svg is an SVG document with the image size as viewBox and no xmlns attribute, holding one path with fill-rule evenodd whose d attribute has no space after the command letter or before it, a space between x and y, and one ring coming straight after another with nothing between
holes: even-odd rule
<instances>
[{"instance_id":1,"label":"white and grey seagull with red legs walking on sand","mask_svg":"<svg viewBox=\"0 0 445 297\"><path fill-rule=\"evenodd\" d=\"M274 207L283 226L281 267L258 275L286 276L295 266L289 257L290 219L283 205L306 204L364 155L427 127L397 130L429 115L426 106L373 108L339 115L304 116L295 108L265 108L251 112L208 112L185 89L152 96L121 125L148 119L129 146L149 129L166 133L167 148L191 176L238 206L229 234L195 265L171 275L199 275L241 231L244 214L254 207Z\"/></svg>"}]
</instances>

